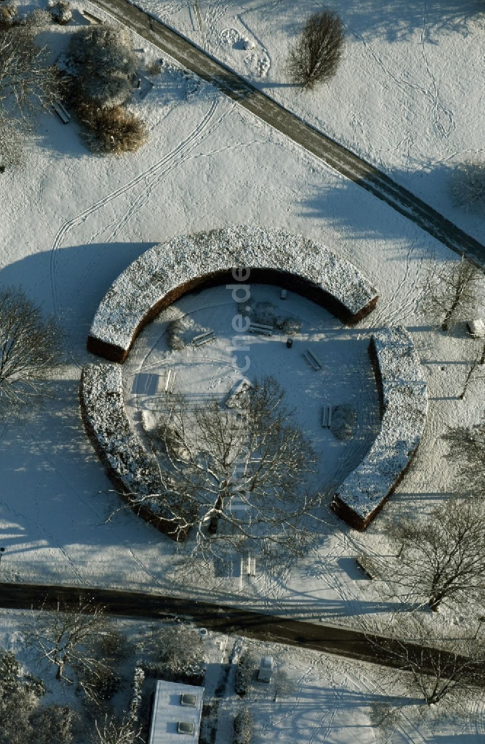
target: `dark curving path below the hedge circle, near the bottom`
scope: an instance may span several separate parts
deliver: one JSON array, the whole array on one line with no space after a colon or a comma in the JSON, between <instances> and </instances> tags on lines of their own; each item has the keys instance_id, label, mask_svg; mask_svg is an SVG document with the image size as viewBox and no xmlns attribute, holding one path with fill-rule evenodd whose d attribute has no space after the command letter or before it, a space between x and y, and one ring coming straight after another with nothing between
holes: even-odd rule
<instances>
[{"instance_id":1,"label":"dark curving path below the hedge circle, near the bottom","mask_svg":"<svg viewBox=\"0 0 485 744\"><path fill-rule=\"evenodd\" d=\"M236 633L259 641L304 647L312 651L332 653L360 661L396 667L393 642L374 635L373 642L363 632L330 623L306 623L302 620L254 612L249 609L200 602L184 597L169 597L142 591L120 589L91 589L80 586L51 586L48 584L0 584L0 607L5 609L55 609L59 602L76 605L80 594L104 606L109 615L127 618L171 620L182 618L221 633ZM418 647L405 644L410 655L419 654ZM423 666L431 665L435 651ZM444 668L445 655L441 655ZM399 663L402 667L402 661ZM446 672L443 672L446 676Z\"/></svg>"}]
</instances>

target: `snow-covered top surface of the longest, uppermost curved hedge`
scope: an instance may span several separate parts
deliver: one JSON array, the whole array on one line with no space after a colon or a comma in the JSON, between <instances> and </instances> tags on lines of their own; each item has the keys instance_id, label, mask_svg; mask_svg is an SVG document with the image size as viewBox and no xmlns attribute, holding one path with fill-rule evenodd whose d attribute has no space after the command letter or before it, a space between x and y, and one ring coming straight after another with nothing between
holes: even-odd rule
<instances>
[{"instance_id":1,"label":"snow-covered top surface of the longest, uppermost curved hedge","mask_svg":"<svg viewBox=\"0 0 485 744\"><path fill-rule=\"evenodd\" d=\"M377 292L348 261L283 230L241 226L176 237L142 254L101 301L90 336L127 350L148 310L198 276L235 266L291 272L320 286L355 315Z\"/></svg>"}]
</instances>

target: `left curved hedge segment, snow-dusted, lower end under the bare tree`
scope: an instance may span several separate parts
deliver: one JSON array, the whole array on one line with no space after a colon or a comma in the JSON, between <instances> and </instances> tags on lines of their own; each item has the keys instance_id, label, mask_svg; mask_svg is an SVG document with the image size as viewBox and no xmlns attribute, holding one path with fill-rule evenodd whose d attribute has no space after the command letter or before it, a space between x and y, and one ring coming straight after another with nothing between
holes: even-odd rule
<instances>
[{"instance_id":1,"label":"left curved hedge segment, snow-dusted, lower end under the bare tree","mask_svg":"<svg viewBox=\"0 0 485 744\"><path fill-rule=\"evenodd\" d=\"M172 539L186 533L164 512L153 494L163 486L156 458L130 426L124 407L121 369L115 365L86 365L80 379L80 408L84 426L107 473L130 507L142 519Z\"/></svg>"}]
</instances>

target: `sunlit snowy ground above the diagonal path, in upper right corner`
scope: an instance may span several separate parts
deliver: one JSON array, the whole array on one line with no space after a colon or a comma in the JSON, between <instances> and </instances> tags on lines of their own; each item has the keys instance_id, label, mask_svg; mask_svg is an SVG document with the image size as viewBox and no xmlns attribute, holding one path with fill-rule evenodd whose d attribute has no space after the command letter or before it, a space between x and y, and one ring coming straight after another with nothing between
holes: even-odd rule
<instances>
[{"instance_id":1,"label":"sunlit snowy ground above the diagonal path, in upper right corner","mask_svg":"<svg viewBox=\"0 0 485 744\"><path fill-rule=\"evenodd\" d=\"M475 157L483 161L485 156L481 0L134 4L177 28L483 242L483 214L467 214L449 195L454 165ZM302 92L288 83L288 48L307 16L323 7L342 19L345 53L329 83ZM250 39L253 48L245 50L243 39Z\"/></svg>"}]
</instances>

